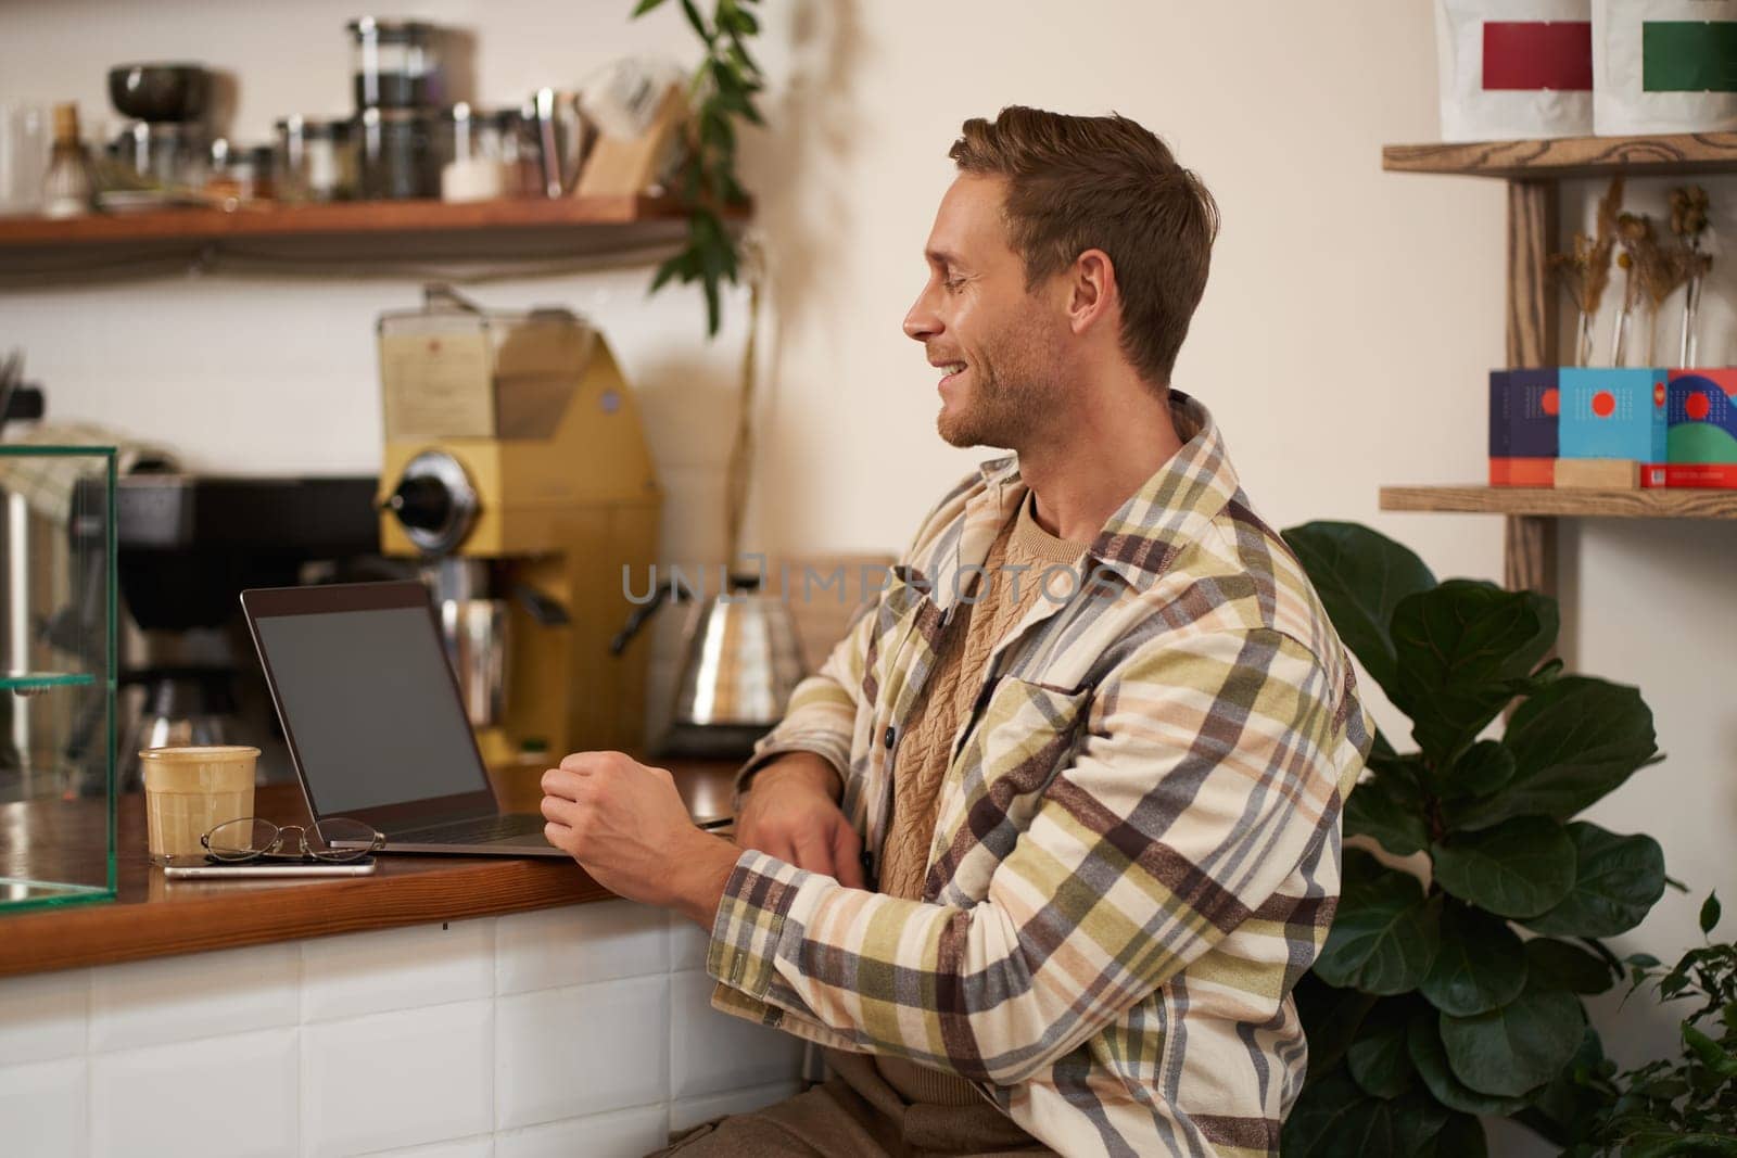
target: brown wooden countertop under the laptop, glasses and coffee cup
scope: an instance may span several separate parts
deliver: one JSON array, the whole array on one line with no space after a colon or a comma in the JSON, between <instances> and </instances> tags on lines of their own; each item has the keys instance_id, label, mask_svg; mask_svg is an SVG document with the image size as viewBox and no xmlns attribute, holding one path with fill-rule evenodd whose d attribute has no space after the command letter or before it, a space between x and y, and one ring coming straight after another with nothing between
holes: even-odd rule
<instances>
[{"instance_id":1,"label":"brown wooden countertop under the laptop, glasses and coffee cup","mask_svg":"<svg viewBox=\"0 0 1737 1158\"><path fill-rule=\"evenodd\" d=\"M688 806L716 814L736 762L672 760ZM301 788L259 788L254 811L278 823L307 813ZM57 852L102 845L96 802L0 806L0 832L28 832L0 849L0 877L56 880ZM571 861L505 856L382 856L372 877L306 880L163 880L146 858L144 799L120 800L120 892L115 901L0 913L0 976L240 948L337 932L516 913L610 896ZM85 861L89 863L89 859Z\"/></svg>"}]
</instances>

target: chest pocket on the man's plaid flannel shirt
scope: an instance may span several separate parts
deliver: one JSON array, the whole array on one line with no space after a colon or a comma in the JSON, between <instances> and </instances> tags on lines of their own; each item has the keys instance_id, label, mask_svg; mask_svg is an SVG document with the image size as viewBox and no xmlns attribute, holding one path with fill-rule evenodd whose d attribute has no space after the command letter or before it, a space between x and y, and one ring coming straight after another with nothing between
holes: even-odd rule
<instances>
[{"instance_id":1,"label":"chest pocket on the man's plaid flannel shirt","mask_svg":"<svg viewBox=\"0 0 1737 1158\"><path fill-rule=\"evenodd\" d=\"M935 826L931 892L980 899L988 875L1032 821L1044 788L1067 767L1091 708L1068 691L1004 675L954 760Z\"/></svg>"}]
</instances>

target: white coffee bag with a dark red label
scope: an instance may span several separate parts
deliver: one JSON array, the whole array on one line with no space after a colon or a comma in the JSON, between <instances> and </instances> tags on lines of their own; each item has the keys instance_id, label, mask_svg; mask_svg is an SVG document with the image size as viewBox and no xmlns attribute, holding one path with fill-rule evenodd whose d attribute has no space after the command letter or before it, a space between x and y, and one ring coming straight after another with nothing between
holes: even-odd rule
<instances>
[{"instance_id":1,"label":"white coffee bag with a dark red label","mask_svg":"<svg viewBox=\"0 0 1737 1158\"><path fill-rule=\"evenodd\" d=\"M1436 0L1443 141L1593 130L1591 0Z\"/></svg>"}]
</instances>

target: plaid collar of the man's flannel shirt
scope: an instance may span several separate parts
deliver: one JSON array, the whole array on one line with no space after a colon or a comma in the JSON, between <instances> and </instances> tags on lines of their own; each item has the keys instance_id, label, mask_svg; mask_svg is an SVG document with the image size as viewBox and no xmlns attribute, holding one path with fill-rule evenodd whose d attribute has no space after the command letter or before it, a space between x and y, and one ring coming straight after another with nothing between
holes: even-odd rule
<instances>
[{"instance_id":1,"label":"plaid collar of the man's flannel shirt","mask_svg":"<svg viewBox=\"0 0 1737 1158\"><path fill-rule=\"evenodd\" d=\"M1164 575L1240 490L1211 411L1195 398L1171 391L1171 420L1183 439L1181 450L1105 521L1086 552L1136 589ZM1020 477L1018 455L990 458L980 472L985 490L971 500L971 507L992 503L1006 512L1030 491ZM962 554L969 559L971 547L966 545Z\"/></svg>"}]
</instances>

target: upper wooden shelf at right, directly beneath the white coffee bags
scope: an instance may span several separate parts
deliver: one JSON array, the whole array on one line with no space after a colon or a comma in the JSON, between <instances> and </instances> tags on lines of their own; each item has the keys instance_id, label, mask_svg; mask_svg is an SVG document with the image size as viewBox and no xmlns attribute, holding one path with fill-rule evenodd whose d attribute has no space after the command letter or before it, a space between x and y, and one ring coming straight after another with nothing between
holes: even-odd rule
<instances>
[{"instance_id":1,"label":"upper wooden shelf at right, directly beneath the white coffee bags","mask_svg":"<svg viewBox=\"0 0 1737 1158\"><path fill-rule=\"evenodd\" d=\"M1390 144L1381 168L1397 174L1459 174L1509 181L1737 172L1737 132L1657 137L1553 137L1475 144Z\"/></svg>"}]
</instances>

